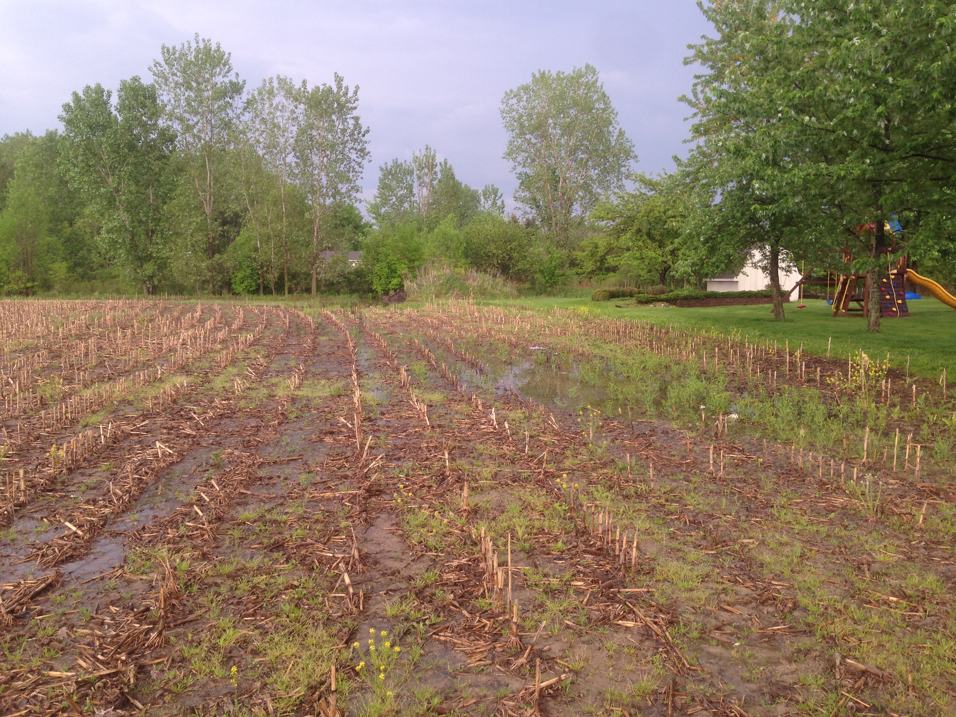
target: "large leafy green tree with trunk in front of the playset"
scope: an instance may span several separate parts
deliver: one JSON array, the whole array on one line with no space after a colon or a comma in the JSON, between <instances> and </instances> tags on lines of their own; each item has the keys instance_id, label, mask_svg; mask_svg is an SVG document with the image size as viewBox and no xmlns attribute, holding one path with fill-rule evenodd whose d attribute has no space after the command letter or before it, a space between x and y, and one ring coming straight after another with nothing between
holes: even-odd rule
<instances>
[{"instance_id":1,"label":"large leafy green tree with trunk in front of the playset","mask_svg":"<svg viewBox=\"0 0 956 717\"><path fill-rule=\"evenodd\" d=\"M693 47L697 139L793 214L836 225L830 249L874 274L886 220L951 215L956 41L948 3L736 0L701 6L718 31ZM923 227L932 226L932 222ZM939 225L937 225L937 228ZM911 240L933 243L931 230ZM909 247L907 249L910 249ZM870 282L870 331L880 329Z\"/></svg>"}]
</instances>

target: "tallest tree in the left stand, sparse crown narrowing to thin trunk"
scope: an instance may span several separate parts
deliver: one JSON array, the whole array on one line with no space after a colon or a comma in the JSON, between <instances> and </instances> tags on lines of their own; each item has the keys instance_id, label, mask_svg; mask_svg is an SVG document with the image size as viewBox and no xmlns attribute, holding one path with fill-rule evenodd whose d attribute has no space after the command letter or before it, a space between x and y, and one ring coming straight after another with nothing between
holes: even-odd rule
<instances>
[{"instance_id":1,"label":"tallest tree in the left stand, sparse crown narrowing to thin trunk","mask_svg":"<svg viewBox=\"0 0 956 717\"><path fill-rule=\"evenodd\" d=\"M193 42L178 48L163 45L162 60L154 61L150 71L206 218L205 271L211 290L213 259L224 233L216 212L223 200L223 175L246 82L233 73L231 55L218 42L200 39L199 33Z\"/></svg>"}]
</instances>

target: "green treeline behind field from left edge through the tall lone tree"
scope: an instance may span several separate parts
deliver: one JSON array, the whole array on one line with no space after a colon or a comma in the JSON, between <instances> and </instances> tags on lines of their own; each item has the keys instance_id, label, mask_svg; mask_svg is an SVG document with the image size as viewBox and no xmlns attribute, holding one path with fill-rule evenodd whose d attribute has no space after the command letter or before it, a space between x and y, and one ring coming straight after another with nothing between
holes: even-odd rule
<instances>
[{"instance_id":1,"label":"green treeline behind field from left edge through the tall lone tree","mask_svg":"<svg viewBox=\"0 0 956 717\"><path fill-rule=\"evenodd\" d=\"M502 102L520 218L429 146L380 167L363 215L369 129L342 77L249 90L198 35L149 70L75 92L62 131L0 140L3 293L380 295L426 263L552 291L634 160L593 67L541 72Z\"/></svg>"}]
</instances>

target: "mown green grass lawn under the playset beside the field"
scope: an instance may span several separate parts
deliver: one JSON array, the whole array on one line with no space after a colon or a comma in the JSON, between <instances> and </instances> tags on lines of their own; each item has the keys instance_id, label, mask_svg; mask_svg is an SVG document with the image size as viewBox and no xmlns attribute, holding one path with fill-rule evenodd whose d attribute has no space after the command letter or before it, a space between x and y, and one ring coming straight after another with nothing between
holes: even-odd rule
<instances>
[{"instance_id":1,"label":"mown green grass lawn under the playset beside the field","mask_svg":"<svg viewBox=\"0 0 956 717\"><path fill-rule=\"evenodd\" d=\"M495 301L489 303L506 304ZM873 358L884 359L897 368L910 359L910 370L928 378L939 378L946 368L950 382L956 380L956 312L930 296L907 302L910 317L883 319L880 334L866 331L861 317L834 318L832 309L822 299L806 299L806 309L797 309L796 302L785 305L785 321L774 321L771 306L719 306L707 309L636 306L629 299L592 301L589 298L554 298L535 296L511 302L534 309L587 307L589 312L615 318L637 318L659 324L676 324L698 329L715 329L721 334L738 332L763 340L776 339L779 345L790 341L791 349L800 347L808 354L825 356L827 342L833 338L831 357L845 359L848 352L862 349ZM622 308L618 308L619 305Z\"/></svg>"}]
</instances>

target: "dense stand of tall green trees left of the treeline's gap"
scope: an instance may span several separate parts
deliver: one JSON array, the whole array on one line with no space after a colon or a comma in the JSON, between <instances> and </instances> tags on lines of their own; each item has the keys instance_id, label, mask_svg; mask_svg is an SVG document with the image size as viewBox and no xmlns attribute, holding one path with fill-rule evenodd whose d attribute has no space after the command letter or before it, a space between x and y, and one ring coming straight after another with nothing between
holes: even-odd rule
<instances>
[{"instance_id":1,"label":"dense stand of tall green trees left of the treeline's gap","mask_svg":"<svg viewBox=\"0 0 956 717\"><path fill-rule=\"evenodd\" d=\"M209 40L75 92L62 132L0 141L5 293L289 293L359 241L358 90L285 77L247 93Z\"/></svg>"}]
</instances>

